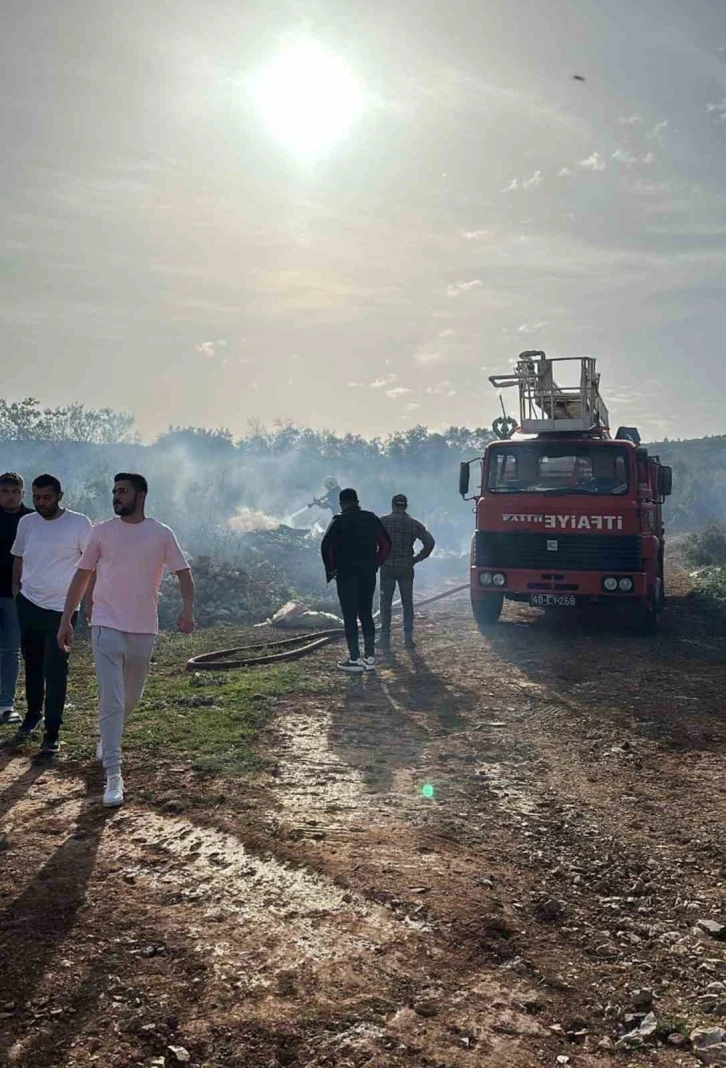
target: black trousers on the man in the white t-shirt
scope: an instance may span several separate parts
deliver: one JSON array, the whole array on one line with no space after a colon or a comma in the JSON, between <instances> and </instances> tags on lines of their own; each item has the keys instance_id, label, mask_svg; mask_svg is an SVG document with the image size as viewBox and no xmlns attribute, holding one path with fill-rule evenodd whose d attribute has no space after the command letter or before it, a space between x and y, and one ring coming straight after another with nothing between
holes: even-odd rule
<instances>
[{"instance_id":1,"label":"black trousers on the man in the white t-shirt","mask_svg":"<svg viewBox=\"0 0 726 1068\"><path fill-rule=\"evenodd\" d=\"M20 594L16 600L20 623L20 651L26 665L28 711L23 727L34 727L45 718L48 738L58 738L68 680L68 655L58 645L61 612L38 608ZM73 617L76 625L77 614Z\"/></svg>"}]
</instances>

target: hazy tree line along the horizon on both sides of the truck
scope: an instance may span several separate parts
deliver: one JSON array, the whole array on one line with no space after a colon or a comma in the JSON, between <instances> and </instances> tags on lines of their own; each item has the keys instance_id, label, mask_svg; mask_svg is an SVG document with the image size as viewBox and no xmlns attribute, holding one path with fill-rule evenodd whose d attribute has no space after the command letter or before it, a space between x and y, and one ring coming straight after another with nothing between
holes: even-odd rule
<instances>
[{"instance_id":1,"label":"hazy tree line along the horizon on both sides of the truck","mask_svg":"<svg viewBox=\"0 0 726 1068\"><path fill-rule=\"evenodd\" d=\"M226 428L171 426L144 446L135 462L152 474L159 471L165 477L176 470L182 482L201 480L206 487L202 492L205 505L222 512L250 506L271 509L274 515L289 509L289 514L319 492L321 478L330 474L367 490L372 507L384 507L391 491L410 497L415 492L420 512L440 522L451 520L462 530L471 517L461 511L456 493L457 465L482 455L491 438L487 427L463 426L444 430L413 426L386 437L365 438L314 430L290 421L270 428L251 422L237 439ZM117 446L112 452L119 461L128 456L128 462L129 453L119 449L141 447L133 417L127 412L80 403L49 408L33 397L0 398L0 442L6 446L3 468L13 466L13 443ZM726 521L726 436L664 441L650 449L674 468L674 496L665 506L670 528L699 530L710 518ZM46 453L48 464L78 478L77 450L73 460L63 449ZM93 498L116 460L110 456L101 460L100 453L96 459L91 453L83 456L84 497ZM21 467L19 457L16 466Z\"/></svg>"}]
</instances>

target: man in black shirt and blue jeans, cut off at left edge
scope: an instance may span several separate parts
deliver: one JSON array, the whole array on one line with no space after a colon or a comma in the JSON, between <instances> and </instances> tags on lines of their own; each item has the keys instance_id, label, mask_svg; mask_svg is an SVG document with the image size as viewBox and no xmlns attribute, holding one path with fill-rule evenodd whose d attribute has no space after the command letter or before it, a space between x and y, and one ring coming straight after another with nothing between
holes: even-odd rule
<instances>
[{"instance_id":1,"label":"man in black shirt and blue jeans, cut off at left edge","mask_svg":"<svg viewBox=\"0 0 726 1068\"><path fill-rule=\"evenodd\" d=\"M22 503L25 486L15 471L0 474L0 723L19 723L15 685L20 668L20 627L13 597L13 554L18 523L32 511Z\"/></svg>"}]
</instances>

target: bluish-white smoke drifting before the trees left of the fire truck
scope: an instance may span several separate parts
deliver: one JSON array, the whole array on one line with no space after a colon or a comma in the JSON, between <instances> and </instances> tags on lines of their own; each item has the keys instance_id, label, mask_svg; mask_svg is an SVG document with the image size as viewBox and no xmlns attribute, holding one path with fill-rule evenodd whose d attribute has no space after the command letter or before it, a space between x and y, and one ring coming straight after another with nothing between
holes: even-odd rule
<instances>
[{"instance_id":1,"label":"bluish-white smoke drifting before the trees left of the fire truck","mask_svg":"<svg viewBox=\"0 0 726 1068\"><path fill-rule=\"evenodd\" d=\"M140 471L149 484L148 515L172 527L185 552L239 566L250 539L272 538L281 524L319 539L331 513L310 505L328 476L354 487L363 507L379 515L390 512L394 493L406 493L411 514L437 539L436 555L465 551L473 516L458 494L458 465L480 455L485 440L486 431L464 428L414 427L368 441L284 426L235 443L228 435L182 429L153 445L5 441L3 466L27 485L42 471L58 475L67 506L94 522L112 515L113 474Z\"/></svg>"}]
</instances>

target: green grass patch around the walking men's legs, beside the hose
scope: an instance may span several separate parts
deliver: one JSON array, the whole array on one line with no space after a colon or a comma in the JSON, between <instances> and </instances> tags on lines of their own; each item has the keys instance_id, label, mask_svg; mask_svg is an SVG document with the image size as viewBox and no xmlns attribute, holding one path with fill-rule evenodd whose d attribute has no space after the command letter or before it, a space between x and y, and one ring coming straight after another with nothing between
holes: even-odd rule
<instances>
[{"instance_id":1,"label":"green grass patch around the walking men's legs, beside the hose","mask_svg":"<svg viewBox=\"0 0 726 1068\"><path fill-rule=\"evenodd\" d=\"M255 742L277 700L306 689L300 663L230 672L188 672L186 664L200 653L258 641L258 632L235 627L214 627L189 638L161 633L144 696L124 733L125 756L140 761L171 757L199 770L233 776L257 766ZM20 680L19 698L21 693ZM18 700L18 706L22 704ZM91 643L78 634L61 735L72 759L93 758L97 709Z\"/></svg>"}]
</instances>

